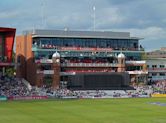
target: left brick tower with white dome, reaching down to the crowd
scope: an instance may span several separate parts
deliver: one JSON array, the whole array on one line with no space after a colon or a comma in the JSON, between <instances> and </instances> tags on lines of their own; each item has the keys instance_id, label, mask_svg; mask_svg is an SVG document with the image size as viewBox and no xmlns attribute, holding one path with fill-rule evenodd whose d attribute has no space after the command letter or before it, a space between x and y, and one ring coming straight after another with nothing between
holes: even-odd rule
<instances>
[{"instance_id":1,"label":"left brick tower with white dome, reaching down to the crowd","mask_svg":"<svg viewBox=\"0 0 166 123\"><path fill-rule=\"evenodd\" d=\"M52 55L52 68L54 71L53 74L53 82L52 87L54 89L59 89L59 83L60 83L60 54L58 52L55 52Z\"/></svg>"}]
</instances>

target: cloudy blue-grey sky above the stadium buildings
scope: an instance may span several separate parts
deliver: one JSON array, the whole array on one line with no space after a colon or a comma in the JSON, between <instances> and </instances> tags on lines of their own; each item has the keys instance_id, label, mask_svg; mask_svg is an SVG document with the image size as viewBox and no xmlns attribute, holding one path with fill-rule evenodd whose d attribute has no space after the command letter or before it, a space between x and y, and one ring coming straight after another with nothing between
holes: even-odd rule
<instances>
[{"instance_id":1,"label":"cloudy blue-grey sky above the stadium buildings","mask_svg":"<svg viewBox=\"0 0 166 123\"><path fill-rule=\"evenodd\" d=\"M95 6L95 12L94 12ZM146 51L166 47L166 0L1 0L0 27L125 31Z\"/></svg>"}]
</instances>

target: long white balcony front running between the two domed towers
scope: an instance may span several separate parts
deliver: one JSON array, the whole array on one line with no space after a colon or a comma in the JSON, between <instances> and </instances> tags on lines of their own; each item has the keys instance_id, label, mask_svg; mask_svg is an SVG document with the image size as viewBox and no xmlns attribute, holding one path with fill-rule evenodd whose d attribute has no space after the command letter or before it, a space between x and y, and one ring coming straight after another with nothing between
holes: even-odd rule
<instances>
[{"instance_id":1,"label":"long white balcony front running between the two domed towers","mask_svg":"<svg viewBox=\"0 0 166 123\"><path fill-rule=\"evenodd\" d=\"M62 67L117 67L115 63L62 63Z\"/></svg>"}]
</instances>

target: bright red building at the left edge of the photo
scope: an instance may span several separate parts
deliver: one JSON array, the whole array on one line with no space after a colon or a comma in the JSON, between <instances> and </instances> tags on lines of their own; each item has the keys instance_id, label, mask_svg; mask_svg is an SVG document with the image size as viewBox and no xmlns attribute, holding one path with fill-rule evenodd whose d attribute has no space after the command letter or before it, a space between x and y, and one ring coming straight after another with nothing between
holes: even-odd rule
<instances>
[{"instance_id":1,"label":"bright red building at the left edge of the photo","mask_svg":"<svg viewBox=\"0 0 166 123\"><path fill-rule=\"evenodd\" d=\"M14 66L12 62L15 28L0 27L0 74L5 73L5 68Z\"/></svg>"}]
</instances>

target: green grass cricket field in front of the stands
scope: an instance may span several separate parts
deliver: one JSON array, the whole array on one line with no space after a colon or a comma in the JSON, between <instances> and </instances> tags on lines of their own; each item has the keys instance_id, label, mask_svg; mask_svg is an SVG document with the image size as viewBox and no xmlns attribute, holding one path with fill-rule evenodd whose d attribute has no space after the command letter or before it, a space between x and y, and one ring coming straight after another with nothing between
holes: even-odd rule
<instances>
[{"instance_id":1,"label":"green grass cricket field in front of the stands","mask_svg":"<svg viewBox=\"0 0 166 123\"><path fill-rule=\"evenodd\" d=\"M0 102L0 123L166 123L166 98Z\"/></svg>"}]
</instances>

